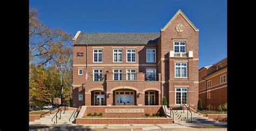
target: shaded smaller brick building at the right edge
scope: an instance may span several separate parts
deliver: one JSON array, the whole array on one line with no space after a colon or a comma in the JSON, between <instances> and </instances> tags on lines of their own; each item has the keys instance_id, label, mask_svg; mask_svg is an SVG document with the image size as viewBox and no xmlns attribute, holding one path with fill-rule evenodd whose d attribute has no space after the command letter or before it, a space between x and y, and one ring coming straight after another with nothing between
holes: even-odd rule
<instances>
[{"instance_id":1,"label":"shaded smaller brick building at the right edge","mask_svg":"<svg viewBox=\"0 0 256 131\"><path fill-rule=\"evenodd\" d=\"M227 103L227 58L199 69L199 98L204 110Z\"/></svg>"}]
</instances>

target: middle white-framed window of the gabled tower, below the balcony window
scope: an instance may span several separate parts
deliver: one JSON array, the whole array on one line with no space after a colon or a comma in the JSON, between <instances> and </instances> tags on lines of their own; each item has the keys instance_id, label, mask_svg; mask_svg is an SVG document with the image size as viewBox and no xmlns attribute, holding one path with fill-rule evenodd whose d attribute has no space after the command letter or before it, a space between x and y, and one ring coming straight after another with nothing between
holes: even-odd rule
<instances>
[{"instance_id":1,"label":"middle white-framed window of the gabled tower, below the balcony window","mask_svg":"<svg viewBox=\"0 0 256 131\"><path fill-rule=\"evenodd\" d=\"M187 77L187 63L174 63L175 77Z\"/></svg>"}]
</instances>

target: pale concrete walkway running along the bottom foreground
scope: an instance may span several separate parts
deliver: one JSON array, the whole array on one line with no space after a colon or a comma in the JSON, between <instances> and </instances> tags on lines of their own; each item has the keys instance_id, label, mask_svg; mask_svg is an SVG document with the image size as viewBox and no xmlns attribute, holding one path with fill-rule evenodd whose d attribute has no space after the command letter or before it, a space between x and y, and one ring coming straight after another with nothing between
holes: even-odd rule
<instances>
[{"instance_id":1,"label":"pale concrete walkway running along the bottom foreground","mask_svg":"<svg viewBox=\"0 0 256 131\"><path fill-rule=\"evenodd\" d=\"M55 124L55 125L30 125L33 127L37 126L48 126L48 128L44 129L30 129L30 131L38 131L38 130L177 130L177 131L185 131L185 130L220 130L224 131L227 128L192 128L190 126L197 126L196 124Z\"/></svg>"}]
</instances>

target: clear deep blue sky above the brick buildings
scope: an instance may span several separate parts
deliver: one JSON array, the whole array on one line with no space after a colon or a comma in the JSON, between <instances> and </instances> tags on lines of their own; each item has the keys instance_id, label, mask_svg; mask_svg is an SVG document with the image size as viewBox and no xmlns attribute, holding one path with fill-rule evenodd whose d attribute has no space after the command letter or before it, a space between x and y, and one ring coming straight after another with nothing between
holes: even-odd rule
<instances>
[{"instance_id":1,"label":"clear deep blue sky above the brick buildings","mask_svg":"<svg viewBox=\"0 0 256 131\"><path fill-rule=\"evenodd\" d=\"M181 9L199 28L199 69L227 56L225 0L30 0L43 23L72 37L82 32L159 33Z\"/></svg>"}]
</instances>

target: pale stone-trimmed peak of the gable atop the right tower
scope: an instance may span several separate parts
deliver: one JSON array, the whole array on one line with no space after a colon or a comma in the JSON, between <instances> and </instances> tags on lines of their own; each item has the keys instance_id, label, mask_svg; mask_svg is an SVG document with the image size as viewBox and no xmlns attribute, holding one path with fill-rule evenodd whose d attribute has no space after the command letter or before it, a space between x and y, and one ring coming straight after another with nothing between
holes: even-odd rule
<instances>
[{"instance_id":1,"label":"pale stone-trimmed peak of the gable atop the right tower","mask_svg":"<svg viewBox=\"0 0 256 131\"><path fill-rule=\"evenodd\" d=\"M172 23L172 21L173 21L174 19L176 19L176 17L177 17L179 14L187 21L187 23L193 28L193 30L194 30L195 32L199 32L199 29L198 29L196 26L193 25L193 23L185 16L185 14L184 14L180 9L179 9L178 12L172 17L172 19L164 26L164 28L161 28L161 31L165 31L166 28Z\"/></svg>"}]
</instances>

